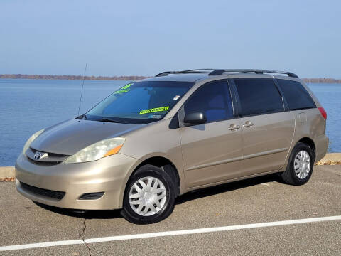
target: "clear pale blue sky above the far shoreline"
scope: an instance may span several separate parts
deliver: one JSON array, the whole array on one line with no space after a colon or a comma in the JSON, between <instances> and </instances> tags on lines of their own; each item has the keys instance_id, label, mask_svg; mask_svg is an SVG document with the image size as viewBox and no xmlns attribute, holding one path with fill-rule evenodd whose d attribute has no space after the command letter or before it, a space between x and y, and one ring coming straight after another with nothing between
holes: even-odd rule
<instances>
[{"instance_id":1,"label":"clear pale blue sky above the far shoreline","mask_svg":"<svg viewBox=\"0 0 341 256\"><path fill-rule=\"evenodd\" d=\"M0 74L193 68L341 78L341 1L1 0Z\"/></svg>"}]
</instances>

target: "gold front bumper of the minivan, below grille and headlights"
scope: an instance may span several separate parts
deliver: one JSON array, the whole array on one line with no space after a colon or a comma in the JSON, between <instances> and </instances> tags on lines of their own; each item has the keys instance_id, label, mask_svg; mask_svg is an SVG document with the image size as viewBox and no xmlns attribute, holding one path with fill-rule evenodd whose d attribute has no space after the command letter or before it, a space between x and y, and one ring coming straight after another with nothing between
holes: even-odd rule
<instances>
[{"instance_id":1,"label":"gold front bumper of the minivan, below grille and headlights","mask_svg":"<svg viewBox=\"0 0 341 256\"><path fill-rule=\"evenodd\" d=\"M26 198L49 206L81 210L121 208L126 180L139 160L124 154L80 164L36 164L21 154L16 161L16 188ZM22 183L49 191L63 191L58 200L33 193ZM80 200L85 193L104 192L98 199Z\"/></svg>"}]
</instances>

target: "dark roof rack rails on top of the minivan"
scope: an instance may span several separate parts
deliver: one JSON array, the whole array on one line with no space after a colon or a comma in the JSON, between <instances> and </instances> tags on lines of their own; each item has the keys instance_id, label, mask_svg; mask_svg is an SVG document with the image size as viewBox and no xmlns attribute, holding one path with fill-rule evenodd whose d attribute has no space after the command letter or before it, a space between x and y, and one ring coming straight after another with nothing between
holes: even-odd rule
<instances>
[{"instance_id":1,"label":"dark roof rack rails on top of the minivan","mask_svg":"<svg viewBox=\"0 0 341 256\"><path fill-rule=\"evenodd\" d=\"M298 75L292 72L278 71L278 70L259 70L259 69L216 69L216 68L200 68L194 70L183 70L183 71L166 71L159 73L156 77L170 75L170 74L185 74L185 73L208 73L208 75L222 75L224 72L236 72L236 73L274 73L274 74L284 74L291 78L298 78Z\"/></svg>"}]
</instances>

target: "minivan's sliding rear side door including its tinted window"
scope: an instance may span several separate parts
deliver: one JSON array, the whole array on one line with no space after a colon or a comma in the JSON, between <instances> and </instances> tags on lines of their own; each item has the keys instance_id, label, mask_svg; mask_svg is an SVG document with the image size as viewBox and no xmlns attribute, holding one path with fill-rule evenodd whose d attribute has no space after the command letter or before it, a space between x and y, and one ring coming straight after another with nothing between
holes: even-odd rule
<instances>
[{"instance_id":1,"label":"minivan's sliding rear side door including its tinted window","mask_svg":"<svg viewBox=\"0 0 341 256\"><path fill-rule=\"evenodd\" d=\"M272 79L235 79L242 126L242 176L281 169L293 140L295 119Z\"/></svg>"}]
</instances>

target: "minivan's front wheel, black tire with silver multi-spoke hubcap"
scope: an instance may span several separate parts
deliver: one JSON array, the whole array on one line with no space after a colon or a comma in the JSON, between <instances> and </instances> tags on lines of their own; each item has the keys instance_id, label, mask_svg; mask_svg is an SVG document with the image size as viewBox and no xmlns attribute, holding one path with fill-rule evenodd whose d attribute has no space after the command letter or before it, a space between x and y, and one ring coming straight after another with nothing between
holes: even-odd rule
<instances>
[{"instance_id":1,"label":"minivan's front wheel, black tire with silver multi-spoke hubcap","mask_svg":"<svg viewBox=\"0 0 341 256\"><path fill-rule=\"evenodd\" d=\"M135 224L157 223L171 215L174 202L175 188L171 176L157 166L147 164L129 178L122 215Z\"/></svg>"}]
</instances>

